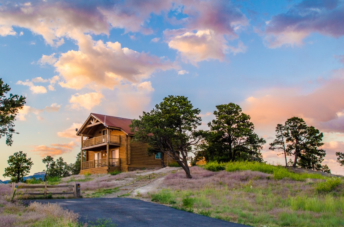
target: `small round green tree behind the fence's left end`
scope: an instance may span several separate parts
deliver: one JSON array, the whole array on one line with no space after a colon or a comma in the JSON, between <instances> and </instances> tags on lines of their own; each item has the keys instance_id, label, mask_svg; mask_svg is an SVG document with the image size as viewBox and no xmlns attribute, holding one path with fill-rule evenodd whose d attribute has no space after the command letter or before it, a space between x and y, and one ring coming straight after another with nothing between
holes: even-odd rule
<instances>
[{"instance_id":1,"label":"small round green tree behind the fence's left end","mask_svg":"<svg viewBox=\"0 0 344 227\"><path fill-rule=\"evenodd\" d=\"M1 84L0 80L0 84ZM12 182L23 182L23 177L29 174L33 162L31 158L26 158L22 151L10 155L7 161L9 167L5 168L4 177L10 177Z\"/></svg>"}]
</instances>

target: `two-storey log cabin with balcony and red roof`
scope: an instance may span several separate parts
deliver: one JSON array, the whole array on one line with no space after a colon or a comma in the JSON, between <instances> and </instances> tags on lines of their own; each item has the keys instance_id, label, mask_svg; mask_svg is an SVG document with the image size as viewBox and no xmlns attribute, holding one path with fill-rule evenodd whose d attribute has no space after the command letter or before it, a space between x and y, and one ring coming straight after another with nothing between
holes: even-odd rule
<instances>
[{"instance_id":1,"label":"two-storey log cabin with balcony and red roof","mask_svg":"<svg viewBox=\"0 0 344 227\"><path fill-rule=\"evenodd\" d=\"M81 157L85 157L85 162L81 159L80 174L161 167L161 154L149 156L147 144L132 142L131 120L97 113L89 115L77 131L81 136ZM164 163L171 162L165 155Z\"/></svg>"}]
</instances>

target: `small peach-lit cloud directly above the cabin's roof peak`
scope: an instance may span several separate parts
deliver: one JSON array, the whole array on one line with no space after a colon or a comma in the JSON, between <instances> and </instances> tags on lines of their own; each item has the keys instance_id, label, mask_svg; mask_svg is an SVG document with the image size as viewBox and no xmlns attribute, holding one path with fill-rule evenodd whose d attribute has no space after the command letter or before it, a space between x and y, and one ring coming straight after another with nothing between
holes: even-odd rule
<instances>
[{"instance_id":1,"label":"small peach-lit cloud directly above the cabin's roof peak","mask_svg":"<svg viewBox=\"0 0 344 227\"><path fill-rule=\"evenodd\" d=\"M86 93L83 95L76 93L71 96L69 103L72 103L72 109L85 108L90 110L94 106L100 105L102 99L104 99L104 95L97 92Z\"/></svg>"}]
</instances>

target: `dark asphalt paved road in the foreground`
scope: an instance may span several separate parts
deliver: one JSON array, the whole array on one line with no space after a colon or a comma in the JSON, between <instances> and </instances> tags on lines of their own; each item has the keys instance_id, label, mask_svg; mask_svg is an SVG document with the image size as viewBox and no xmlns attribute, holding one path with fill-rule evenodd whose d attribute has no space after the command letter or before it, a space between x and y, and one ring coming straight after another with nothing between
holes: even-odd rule
<instances>
[{"instance_id":1,"label":"dark asphalt paved road in the foreground","mask_svg":"<svg viewBox=\"0 0 344 227\"><path fill-rule=\"evenodd\" d=\"M112 224L117 224L118 227L246 226L130 198L26 200L23 203L34 201L57 203L64 209L79 213L81 223L95 223L99 218L111 218Z\"/></svg>"}]
</instances>

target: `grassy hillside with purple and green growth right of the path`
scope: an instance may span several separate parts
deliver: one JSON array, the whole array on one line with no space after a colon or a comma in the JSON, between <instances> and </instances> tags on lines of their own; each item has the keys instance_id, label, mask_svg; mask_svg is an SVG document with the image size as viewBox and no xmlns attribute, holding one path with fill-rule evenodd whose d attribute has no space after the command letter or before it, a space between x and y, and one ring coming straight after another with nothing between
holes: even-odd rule
<instances>
[{"instance_id":1,"label":"grassy hillside with purple and green growth right of the path","mask_svg":"<svg viewBox=\"0 0 344 227\"><path fill-rule=\"evenodd\" d=\"M248 162L195 166L191 174L192 179L183 171L169 174L163 182L167 189L147 196L180 210L251 226L344 226L341 178Z\"/></svg>"}]
</instances>

